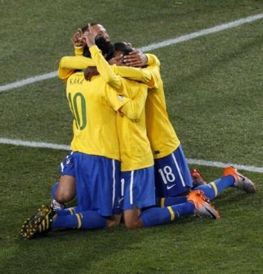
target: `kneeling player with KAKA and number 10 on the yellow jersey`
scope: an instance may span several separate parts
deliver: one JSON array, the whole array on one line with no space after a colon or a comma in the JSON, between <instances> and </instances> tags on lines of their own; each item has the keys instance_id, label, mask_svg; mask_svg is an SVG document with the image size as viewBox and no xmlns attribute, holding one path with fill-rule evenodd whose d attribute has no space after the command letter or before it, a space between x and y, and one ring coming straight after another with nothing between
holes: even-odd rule
<instances>
[{"instance_id":1,"label":"kneeling player with KAKA and number 10 on the yellow jersey","mask_svg":"<svg viewBox=\"0 0 263 274\"><path fill-rule=\"evenodd\" d=\"M105 38L96 41L103 42ZM107 41L104 45L102 53L107 58L112 45ZM73 161L71 176L75 178L78 213L64 216L55 214L48 206L42 207L24 223L22 236L28 239L48 229L105 228L120 221L116 111L131 100L118 95L100 76L87 82L82 72L68 78L66 97L74 117L70 161Z\"/></svg>"}]
</instances>

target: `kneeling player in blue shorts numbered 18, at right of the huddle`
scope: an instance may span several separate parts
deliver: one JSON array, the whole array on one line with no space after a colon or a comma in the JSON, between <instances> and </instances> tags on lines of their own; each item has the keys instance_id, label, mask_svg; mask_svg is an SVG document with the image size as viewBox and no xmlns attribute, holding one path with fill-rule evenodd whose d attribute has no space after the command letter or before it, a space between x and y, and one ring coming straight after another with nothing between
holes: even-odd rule
<instances>
[{"instance_id":1,"label":"kneeling player in blue shorts numbered 18, at right of the huddle","mask_svg":"<svg viewBox=\"0 0 263 274\"><path fill-rule=\"evenodd\" d=\"M224 176L206 185L204 185L205 182L197 170L192 172L191 178L179 139L167 115L163 81L159 71L160 62L154 55L147 55L147 57L150 57L147 68L136 69L117 66L116 73L122 77L145 82L149 86L146 101L147 136L154 154L155 181L157 194L160 198L159 204L170 206L185 201L186 197L178 196L193 188L191 185L192 178L200 185L194 190L202 190L210 200L229 187L236 187L247 193L255 192L255 185L233 167L227 167L224 170ZM124 60L130 64L134 57L130 58L129 55L126 55ZM152 86L153 82L154 86ZM176 196L175 199L171 198Z\"/></svg>"}]
</instances>

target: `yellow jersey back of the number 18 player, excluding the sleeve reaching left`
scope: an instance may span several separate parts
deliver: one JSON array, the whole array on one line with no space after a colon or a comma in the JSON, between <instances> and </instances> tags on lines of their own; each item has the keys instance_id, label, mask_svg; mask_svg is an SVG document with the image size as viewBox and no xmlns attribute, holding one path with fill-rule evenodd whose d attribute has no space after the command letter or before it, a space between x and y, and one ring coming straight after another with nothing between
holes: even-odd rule
<instances>
[{"instance_id":1,"label":"yellow jersey back of the number 18 player, excluding the sleeve reaching left","mask_svg":"<svg viewBox=\"0 0 263 274\"><path fill-rule=\"evenodd\" d=\"M158 66L148 66L147 69L155 82L154 87L148 90L145 104L147 136L154 158L163 158L179 147L180 141L168 117L160 69Z\"/></svg>"}]
</instances>

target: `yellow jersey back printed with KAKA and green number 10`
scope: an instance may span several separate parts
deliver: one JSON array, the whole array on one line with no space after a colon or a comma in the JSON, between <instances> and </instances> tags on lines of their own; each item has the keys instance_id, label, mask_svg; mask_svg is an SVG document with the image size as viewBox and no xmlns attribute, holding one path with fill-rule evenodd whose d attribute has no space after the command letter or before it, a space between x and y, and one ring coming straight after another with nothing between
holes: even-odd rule
<instances>
[{"instance_id":1,"label":"yellow jersey back printed with KAKA and green number 10","mask_svg":"<svg viewBox=\"0 0 263 274\"><path fill-rule=\"evenodd\" d=\"M115 91L100 76L88 82L79 72L67 80L66 97L74 117L71 149L119 160Z\"/></svg>"}]
</instances>

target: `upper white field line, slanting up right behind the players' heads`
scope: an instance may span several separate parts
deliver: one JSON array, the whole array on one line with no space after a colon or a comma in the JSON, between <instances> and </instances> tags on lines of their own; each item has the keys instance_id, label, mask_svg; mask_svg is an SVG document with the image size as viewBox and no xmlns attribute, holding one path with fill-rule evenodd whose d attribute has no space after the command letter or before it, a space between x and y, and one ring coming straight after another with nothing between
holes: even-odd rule
<instances>
[{"instance_id":1,"label":"upper white field line, slanting up right behind the players' heads","mask_svg":"<svg viewBox=\"0 0 263 274\"><path fill-rule=\"evenodd\" d=\"M237 27L237 26L242 26L243 24L250 23L250 22L262 19L262 18L263 18L263 13L260 13L258 15L245 17L245 18L242 18L242 19L239 19L239 20L236 20L236 21L232 21L232 22L229 22L229 23L226 23L226 24L221 24L219 26L215 26L215 27L212 27L212 28L206 28L206 29L203 29L203 30L199 30L195 33L190 33L190 34L187 34L187 35L183 35L183 36L180 36L180 37L177 37L177 38L174 38L174 39L167 39L163 42L150 44L148 46L143 46L142 48L139 48L139 49L140 49L140 51L144 51L144 52L145 51L153 51L156 48L163 48L165 46L170 46L172 44L178 44L178 43L181 43L181 42L185 42L185 41L197 38L197 37L201 37L203 35L208 35L210 33L217 33L221 30L226 30L228 28L234 28L234 27ZM46 74L42 74L42 75L37 75L35 77L26 78L26 79L21 80L21 81L12 82L10 84L5 84L3 86L0 86L0 92L1 91L8 91L10 89L15 89L15 88L18 88L20 86L25 86L26 84L32 84L32 83L39 82L39 81L42 81L42 80L50 79L50 78L53 78L53 77L56 77L56 76L57 76L57 71L53 71L51 73L46 73Z\"/></svg>"}]
</instances>

